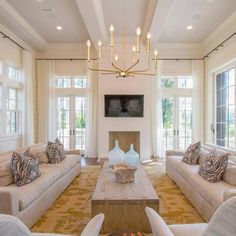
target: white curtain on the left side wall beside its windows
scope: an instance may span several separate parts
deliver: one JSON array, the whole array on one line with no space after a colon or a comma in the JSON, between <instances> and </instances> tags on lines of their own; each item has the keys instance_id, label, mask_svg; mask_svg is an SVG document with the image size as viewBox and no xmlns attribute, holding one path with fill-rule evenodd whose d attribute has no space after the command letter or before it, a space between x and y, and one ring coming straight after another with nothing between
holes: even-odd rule
<instances>
[{"instance_id":1,"label":"white curtain on the left side wall beside its windows","mask_svg":"<svg viewBox=\"0 0 236 236\"><path fill-rule=\"evenodd\" d=\"M22 50L22 81L23 81L23 146L34 144L33 115L33 67L34 58L28 51Z\"/></svg>"}]
</instances>

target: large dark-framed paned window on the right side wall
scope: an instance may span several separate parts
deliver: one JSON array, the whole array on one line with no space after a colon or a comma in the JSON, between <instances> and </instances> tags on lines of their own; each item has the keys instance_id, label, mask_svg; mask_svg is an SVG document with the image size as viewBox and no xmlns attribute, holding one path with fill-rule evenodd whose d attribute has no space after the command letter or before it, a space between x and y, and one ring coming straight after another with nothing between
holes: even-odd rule
<instances>
[{"instance_id":1,"label":"large dark-framed paned window on the right side wall","mask_svg":"<svg viewBox=\"0 0 236 236\"><path fill-rule=\"evenodd\" d=\"M236 140L235 68L216 75L216 144L235 147Z\"/></svg>"}]
</instances>

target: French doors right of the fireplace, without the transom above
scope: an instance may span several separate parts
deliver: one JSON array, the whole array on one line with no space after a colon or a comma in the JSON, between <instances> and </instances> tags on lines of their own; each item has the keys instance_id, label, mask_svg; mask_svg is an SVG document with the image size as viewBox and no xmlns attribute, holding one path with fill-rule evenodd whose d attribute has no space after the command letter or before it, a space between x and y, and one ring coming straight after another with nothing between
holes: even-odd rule
<instances>
[{"instance_id":1,"label":"French doors right of the fireplace, without the transom above","mask_svg":"<svg viewBox=\"0 0 236 236\"><path fill-rule=\"evenodd\" d=\"M184 150L192 142L192 97L163 96L164 148Z\"/></svg>"}]
</instances>

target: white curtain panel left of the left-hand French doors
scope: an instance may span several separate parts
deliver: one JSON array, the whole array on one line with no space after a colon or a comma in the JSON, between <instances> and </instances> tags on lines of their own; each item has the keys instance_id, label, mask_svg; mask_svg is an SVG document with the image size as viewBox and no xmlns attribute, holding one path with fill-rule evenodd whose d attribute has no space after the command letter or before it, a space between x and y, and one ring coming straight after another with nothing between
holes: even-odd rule
<instances>
[{"instance_id":1,"label":"white curtain panel left of the left-hand French doors","mask_svg":"<svg viewBox=\"0 0 236 236\"><path fill-rule=\"evenodd\" d=\"M53 60L39 60L36 64L38 102L38 141L47 143L56 137L55 81Z\"/></svg>"}]
</instances>

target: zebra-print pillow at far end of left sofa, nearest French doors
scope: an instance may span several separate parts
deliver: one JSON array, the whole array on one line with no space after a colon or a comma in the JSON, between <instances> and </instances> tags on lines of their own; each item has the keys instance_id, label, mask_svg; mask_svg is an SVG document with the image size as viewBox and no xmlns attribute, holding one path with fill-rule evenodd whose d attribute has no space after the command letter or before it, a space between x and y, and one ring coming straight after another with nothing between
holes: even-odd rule
<instances>
[{"instance_id":1,"label":"zebra-print pillow at far end of left sofa, nearest French doors","mask_svg":"<svg viewBox=\"0 0 236 236\"><path fill-rule=\"evenodd\" d=\"M64 145L57 138L53 143L48 142L46 152L51 164L57 164L65 158Z\"/></svg>"}]
</instances>

